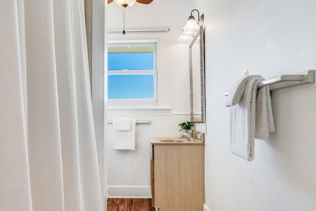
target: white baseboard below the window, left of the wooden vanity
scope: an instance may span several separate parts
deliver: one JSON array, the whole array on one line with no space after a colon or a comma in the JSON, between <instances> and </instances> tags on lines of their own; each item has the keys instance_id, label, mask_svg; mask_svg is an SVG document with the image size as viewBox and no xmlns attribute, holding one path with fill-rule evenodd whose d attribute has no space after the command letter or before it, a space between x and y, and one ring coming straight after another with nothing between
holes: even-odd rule
<instances>
[{"instance_id":1,"label":"white baseboard below the window, left of the wooden vanity","mask_svg":"<svg viewBox=\"0 0 316 211\"><path fill-rule=\"evenodd\" d=\"M150 199L152 192L146 186L108 186L109 198Z\"/></svg>"}]
</instances>

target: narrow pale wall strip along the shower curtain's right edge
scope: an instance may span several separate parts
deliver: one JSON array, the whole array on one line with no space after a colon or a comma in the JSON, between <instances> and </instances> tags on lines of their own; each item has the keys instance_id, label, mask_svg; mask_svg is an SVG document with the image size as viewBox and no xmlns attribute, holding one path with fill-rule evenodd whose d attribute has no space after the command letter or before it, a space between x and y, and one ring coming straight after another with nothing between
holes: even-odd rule
<instances>
[{"instance_id":1,"label":"narrow pale wall strip along the shower curtain's right edge","mask_svg":"<svg viewBox=\"0 0 316 211\"><path fill-rule=\"evenodd\" d=\"M107 132L104 120L107 119L107 109L106 109L106 100L104 97L104 81L106 74L104 74L104 66L107 64L107 61L104 61L104 42L105 42L105 11L106 7L103 1L99 0L90 0L85 1L87 16L92 18L88 27L88 35L92 36L91 46L88 46L88 50L91 50L92 64L91 64L91 75L92 77L92 109L93 109L93 119L94 119L94 129L96 135L96 145L98 153L98 165L99 165L99 175L100 175L100 185L102 190L102 206L103 210L107 211L107 190L106 190L106 181L107 181L107 145L105 144L105 134ZM93 11L93 12L92 12ZM92 14L89 14L92 12ZM93 32L91 34L91 32ZM89 42L88 42L89 45Z\"/></svg>"}]
</instances>

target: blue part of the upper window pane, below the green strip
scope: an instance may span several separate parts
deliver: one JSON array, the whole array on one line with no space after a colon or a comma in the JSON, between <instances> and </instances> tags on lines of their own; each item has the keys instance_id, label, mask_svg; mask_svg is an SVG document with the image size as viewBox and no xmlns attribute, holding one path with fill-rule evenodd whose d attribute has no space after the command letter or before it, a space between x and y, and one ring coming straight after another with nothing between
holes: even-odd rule
<instances>
[{"instance_id":1,"label":"blue part of the upper window pane, below the green strip","mask_svg":"<svg viewBox=\"0 0 316 211\"><path fill-rule=\"evenodd\" d=\"M154 53L108 53L108 70L153 70Z\"/></svg>"}]
</instances>

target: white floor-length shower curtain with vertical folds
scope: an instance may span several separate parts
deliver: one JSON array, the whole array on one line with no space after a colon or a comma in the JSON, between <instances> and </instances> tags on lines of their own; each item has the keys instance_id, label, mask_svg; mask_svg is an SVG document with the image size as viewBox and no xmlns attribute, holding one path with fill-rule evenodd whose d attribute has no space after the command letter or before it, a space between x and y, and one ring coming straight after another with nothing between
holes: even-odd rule
<instances>
[{"instance_id":1,"label":"white floor-length shower curtain with vertical folds","mask_svg":"<svg viewBox=\"0 0 316 211\"><path fill-rule=\"evenodd\" d=\"M0 210L101 211L83 0L0 0Z\"/></svg>"}]
</instances>

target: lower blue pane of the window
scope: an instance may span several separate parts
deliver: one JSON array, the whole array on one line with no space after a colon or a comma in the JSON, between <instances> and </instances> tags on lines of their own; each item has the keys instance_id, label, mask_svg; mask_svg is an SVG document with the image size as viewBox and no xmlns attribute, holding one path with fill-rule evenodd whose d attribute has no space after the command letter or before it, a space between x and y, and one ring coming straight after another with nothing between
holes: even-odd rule
<instances>
[{"instance_id":1,"label":"lower blue pane of the window","mask_svg":"<svg viewBox=\"0 0 316 211\"><path fill-rule=\"evenodd\" d=\"M154 75L109 75L108 98L154 98Z\"/></svg>"}]
</instances>

